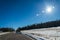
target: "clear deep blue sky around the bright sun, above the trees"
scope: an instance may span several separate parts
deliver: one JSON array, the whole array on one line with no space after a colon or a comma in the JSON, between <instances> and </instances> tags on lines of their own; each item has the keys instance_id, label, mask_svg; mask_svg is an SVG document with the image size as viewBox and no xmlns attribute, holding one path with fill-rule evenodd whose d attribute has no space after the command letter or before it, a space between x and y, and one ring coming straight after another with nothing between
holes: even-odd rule
<instances>
[{"instance_id":1,"label":"clear deep blue sky around the bright sun, above the trees","mask_svg":"<svg viewBox=\"0 0 60 40\"><path fill-rule=\"evenodd\" d=\"M42 12L54 6L51 13ZM0 0L0 27L24 27L60 20L60 0Z\"/></svg>"}]
</instances>

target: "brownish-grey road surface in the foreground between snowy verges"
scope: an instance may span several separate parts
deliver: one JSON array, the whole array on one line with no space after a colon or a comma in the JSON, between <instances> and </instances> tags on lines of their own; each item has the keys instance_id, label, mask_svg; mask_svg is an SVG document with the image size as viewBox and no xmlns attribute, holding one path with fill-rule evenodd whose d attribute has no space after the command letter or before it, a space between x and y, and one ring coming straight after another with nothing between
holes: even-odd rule
<instances>
[{"instance_id":1,"label":"brownish-grey road surface in the foreground between snowy verges","mask_svg":"<svg viewBox=\"0 0 60 40\"><path fill-rule=\"evenodd\" d=\"M0 35L0 40L32 40L32 39L22 34L9 33L5 35Z\"/></svg>"}]
</instances>

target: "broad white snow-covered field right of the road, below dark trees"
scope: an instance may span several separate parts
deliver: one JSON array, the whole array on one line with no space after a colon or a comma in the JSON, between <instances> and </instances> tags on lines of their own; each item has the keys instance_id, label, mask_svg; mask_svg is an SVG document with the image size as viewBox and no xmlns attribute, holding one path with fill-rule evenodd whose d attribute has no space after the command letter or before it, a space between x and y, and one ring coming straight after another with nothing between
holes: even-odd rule
<instances>
[{"instance_id":1,"label":"broad white snow-covered field right of the road, below dark trees","mask_svg":"<svg viewBox=\"0 0 60 40\"><path fill-rule=\"evenodd\" d=\"M37 40L60 40L60 27L24 30L21 32Z\"/></svg>"}]
</instances>

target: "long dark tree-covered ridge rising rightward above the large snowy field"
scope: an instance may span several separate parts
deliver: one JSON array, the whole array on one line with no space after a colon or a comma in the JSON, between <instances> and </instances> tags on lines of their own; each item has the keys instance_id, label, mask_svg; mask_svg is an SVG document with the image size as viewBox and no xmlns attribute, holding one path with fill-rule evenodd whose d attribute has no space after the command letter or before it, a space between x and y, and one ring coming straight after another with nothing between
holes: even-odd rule
<instances>
[{"instance_id":1,"label":"long dark tree-covered ridge rising rightward above the large snowy field","mask_svg":"<svg viewBox=\"0 0 60 40\"><path fill-rule=\"evenodd\" d=\"M19 30L29 30L29 29L50 28L50 27L58 27L58 26L60 26L60 20L28 25L28 26L18 28L18 29Z\"/></svg>"}]
</instances>

